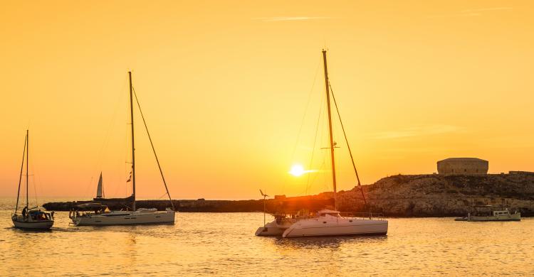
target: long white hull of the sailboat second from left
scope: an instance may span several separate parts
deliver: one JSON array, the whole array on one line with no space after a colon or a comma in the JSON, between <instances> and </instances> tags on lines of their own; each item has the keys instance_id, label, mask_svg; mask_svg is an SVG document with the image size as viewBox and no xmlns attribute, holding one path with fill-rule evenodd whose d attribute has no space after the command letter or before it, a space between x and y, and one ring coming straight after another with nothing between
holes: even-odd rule
<instances>
[{"instance_id":1,"label":"long white hull of the sailboat second from left","mask_svg":"<svg viewBox=\"0 0 534 277\"><path fill-rule=\"evenodd\" d=\"M76 226L174 224L174 211L165 212L109 212L71 217Z\"/></svg>"}]
</instances>

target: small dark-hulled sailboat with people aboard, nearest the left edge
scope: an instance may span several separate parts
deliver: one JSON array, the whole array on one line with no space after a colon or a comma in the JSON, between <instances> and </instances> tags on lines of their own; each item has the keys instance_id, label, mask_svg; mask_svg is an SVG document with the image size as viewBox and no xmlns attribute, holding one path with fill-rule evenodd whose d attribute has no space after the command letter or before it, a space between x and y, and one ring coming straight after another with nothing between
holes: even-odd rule
<instances>
[{"instance_id":1,"label":"small dark-hulled sailboat with people aboard, nearest the left edge","mask_svg":"<svg viewBox=\"0 0 534 277\"><path fill-rule=\"evenodd\" d=\"M15 212L11 214L11 220L16 228L21 229L50 229L54 224L53 214L42 212L38 207L29 207L28 201L28 159L29 159L29 132L26 130L26 139L24 140L24 151L22 154L21 174L19 176L19 190L16 194ZM24 158L26 156L26 159ZM21 193L21 180L24 161L26 160L26 206L23 207L21 214L19 210L19 198Z\"/></svg>"}]
</instances>

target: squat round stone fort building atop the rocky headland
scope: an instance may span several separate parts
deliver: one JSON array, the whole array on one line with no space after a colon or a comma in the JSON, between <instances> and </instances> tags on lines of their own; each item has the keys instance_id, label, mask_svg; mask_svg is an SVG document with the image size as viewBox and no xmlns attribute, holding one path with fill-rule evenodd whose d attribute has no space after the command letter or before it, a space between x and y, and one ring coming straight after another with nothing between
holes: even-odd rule
<instances>
[{"instance_id":1,"label":"squat round stone fort building atop the rocky headland","mask_svg":"<svg viewBox=\"0 0 534 277\"><path fill-rule=\"evenodd\" d=\"M441 175L486 175L488 161L480 158L446 158L438 161L438 173Z\"/></svg>"}]
</instances>

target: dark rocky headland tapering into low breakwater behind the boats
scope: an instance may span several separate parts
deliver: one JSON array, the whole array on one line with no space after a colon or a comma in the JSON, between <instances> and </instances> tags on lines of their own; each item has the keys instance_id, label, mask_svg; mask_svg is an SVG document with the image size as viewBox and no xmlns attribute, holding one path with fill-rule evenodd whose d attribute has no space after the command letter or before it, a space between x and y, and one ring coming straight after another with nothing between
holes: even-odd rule
<instances>
[{"instance_id":1,"label":"dark rocky headland tapering into low breakwater behind the boats","mask_svg":"<svg viewBox=\"0 0 534 277\"><path fill-rule=\"evenodd\" d=\"M362 186L340 191L337 206L341 212L381 212L387 217L453 217L473 212L475 205L503 205L524 216L534 216L534 173L491 175L394 175ZM333 205L333 193L266 200L267 212L319 210ZM46 210L68 211L84 202L51 202ZM138 200L137 207L164 210L168 200ZM179 212L261 212L263 200L173 200ZM107 203L120 210L120 203Z\"/></svg>"}]
</instances>

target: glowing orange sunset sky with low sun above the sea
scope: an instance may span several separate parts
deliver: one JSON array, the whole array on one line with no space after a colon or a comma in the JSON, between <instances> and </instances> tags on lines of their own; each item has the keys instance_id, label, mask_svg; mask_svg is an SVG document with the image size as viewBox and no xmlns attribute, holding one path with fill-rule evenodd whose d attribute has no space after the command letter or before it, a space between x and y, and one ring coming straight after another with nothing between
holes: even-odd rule
<instances>
[{"instance_id":1,"label":"glowing orange sunset sky with low sun above the sea","mask_svg":"<svg viewBox=\"0 0 534 277\"><path fill-rule=\"evenodd\" d=\"M534 170L531 1L3 1L0 38L0 196L28 124L38 195L91 197L100 171L126 195L128 70L173 198L327 190L288 175L325 154L309 168L325 45L362 183L456 156ZM157 198L137 123L138 195Z\"/></svg>"}]
</instances>

